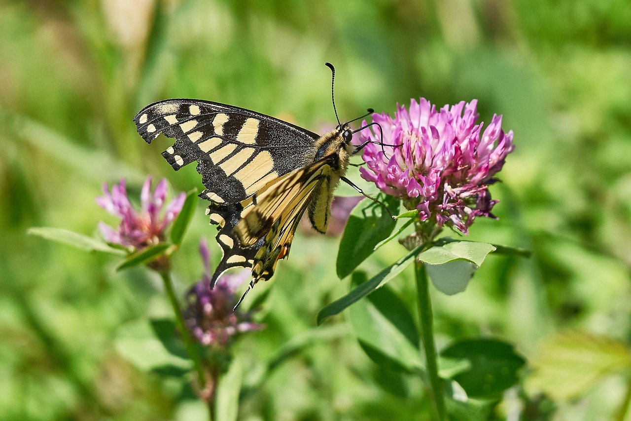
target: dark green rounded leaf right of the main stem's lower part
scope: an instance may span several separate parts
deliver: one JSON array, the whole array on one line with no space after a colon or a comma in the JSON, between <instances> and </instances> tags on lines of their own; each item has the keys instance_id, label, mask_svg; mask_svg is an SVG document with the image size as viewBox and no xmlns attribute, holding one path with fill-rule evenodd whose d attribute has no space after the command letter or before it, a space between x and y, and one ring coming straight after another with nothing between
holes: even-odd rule
<instances>
[{"instance_id":1,"label":"dark green rounded leaf right of the main stem's lower part","mask_svg":"<svg viewBox=\"0 0 631 421\"><path fill-rule=\"evenodd\" d=\"M526 363L512 345L490 338L456 341L440 355L469 363L468 370L452 378L471 398L492 397L513 386L519 380L519 369Z\"/></svg>"}]
</instances>

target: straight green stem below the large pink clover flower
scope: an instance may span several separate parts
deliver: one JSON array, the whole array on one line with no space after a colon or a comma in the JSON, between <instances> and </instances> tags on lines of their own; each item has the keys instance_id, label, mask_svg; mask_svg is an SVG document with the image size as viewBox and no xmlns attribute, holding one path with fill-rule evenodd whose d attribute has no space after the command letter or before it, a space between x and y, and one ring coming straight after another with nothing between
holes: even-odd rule
<instances>
[{"instance_id":1,"label":"straight green stem below the large pink clover flower","mask_svg":"<svg viewBox=\"0 0 631 421\"><path fill-rule=\"evenodd\" d=\"M446 420L445 396L442 393L442 385L438 376L438 364L436 362L436 345L433 336L432 302L430 300L429 278L423 262L416 260L416 294L418 295L418 310L421 317L421 334L427 374L430 382L430 395L434 418L438 421Z\"/></svg>"}]
</instances>

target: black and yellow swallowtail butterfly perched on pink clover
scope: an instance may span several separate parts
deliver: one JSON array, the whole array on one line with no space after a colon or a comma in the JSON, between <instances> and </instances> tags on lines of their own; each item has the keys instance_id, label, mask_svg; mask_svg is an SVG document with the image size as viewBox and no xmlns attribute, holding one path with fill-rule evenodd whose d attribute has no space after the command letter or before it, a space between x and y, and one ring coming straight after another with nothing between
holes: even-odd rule
<instances>
[{"instance_id":1,"label":"black and yellow swallowtail butterfly perched on pink clover","mask_svg":"<svg viewBox=\"0 0 631 421\"><path fill-rule=\"evenodd\" d=\"M334 80L334 68L326 64ZM162 156L176 171L197 162L205 186L199 197L211 202L206 214L218 226L223 250L211 288L232 267L252 270L247 291L270 279L289 254L305 212L316 231L326 231L339 181L357 188L345 178L350 157L363 147L351 143L352 121L338 118L334 130L319 136L265 114L198 99L158 101L136 114L136 129L147 143L160 133L175 138Z\"/></svg>"}]
</instances>

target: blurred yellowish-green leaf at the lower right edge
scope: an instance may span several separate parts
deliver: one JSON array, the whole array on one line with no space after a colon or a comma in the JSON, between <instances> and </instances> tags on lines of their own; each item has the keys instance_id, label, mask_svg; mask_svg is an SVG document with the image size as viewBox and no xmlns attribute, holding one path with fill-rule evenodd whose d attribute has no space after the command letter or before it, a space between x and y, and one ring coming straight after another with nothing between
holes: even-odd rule
<instances>
[{"instance_id":1,"label":"blurred yellowish-green leaf at the lower right edge","mask_svg":"<svg viewBox=\"0 0 631 421\"><path fill-rule=\"evenodd\" d=\"M618 339L580 331L566 331L548 339L533 358L529 391L554 400L581 396L604 377L631 369L628 346Z\"/></svg>"}]
</instances>

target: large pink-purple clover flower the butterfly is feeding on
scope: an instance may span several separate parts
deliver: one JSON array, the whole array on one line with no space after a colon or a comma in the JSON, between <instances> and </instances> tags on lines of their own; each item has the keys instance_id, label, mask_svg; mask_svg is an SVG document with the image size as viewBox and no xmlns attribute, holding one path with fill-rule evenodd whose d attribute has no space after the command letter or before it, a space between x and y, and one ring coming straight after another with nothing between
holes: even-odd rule
<instances>
[{"instance_id":1,"label":"large pink-purple clover flower the butterfly is feeding on","mask_svg":"<svg viewBox=\"0 0 631 421\"><path fill-rule=\"evenodd\" d=\"M478 101L464 101L440 110L425 98L411 100L410 111L397 106L394 118L372 114L383 128L365 135L362 178L383 192L403 198L407 209L418 209L421 221L468 234L478 216L495 217L488 185L512 152L513 132L504 133L502 116L494 115L481 132L476 124ZM363 123L365 125L365 122ZM393 145L393 146L389 146ZM385 152L385 154L384 154Z\"/></svg>"}]
</instances>

